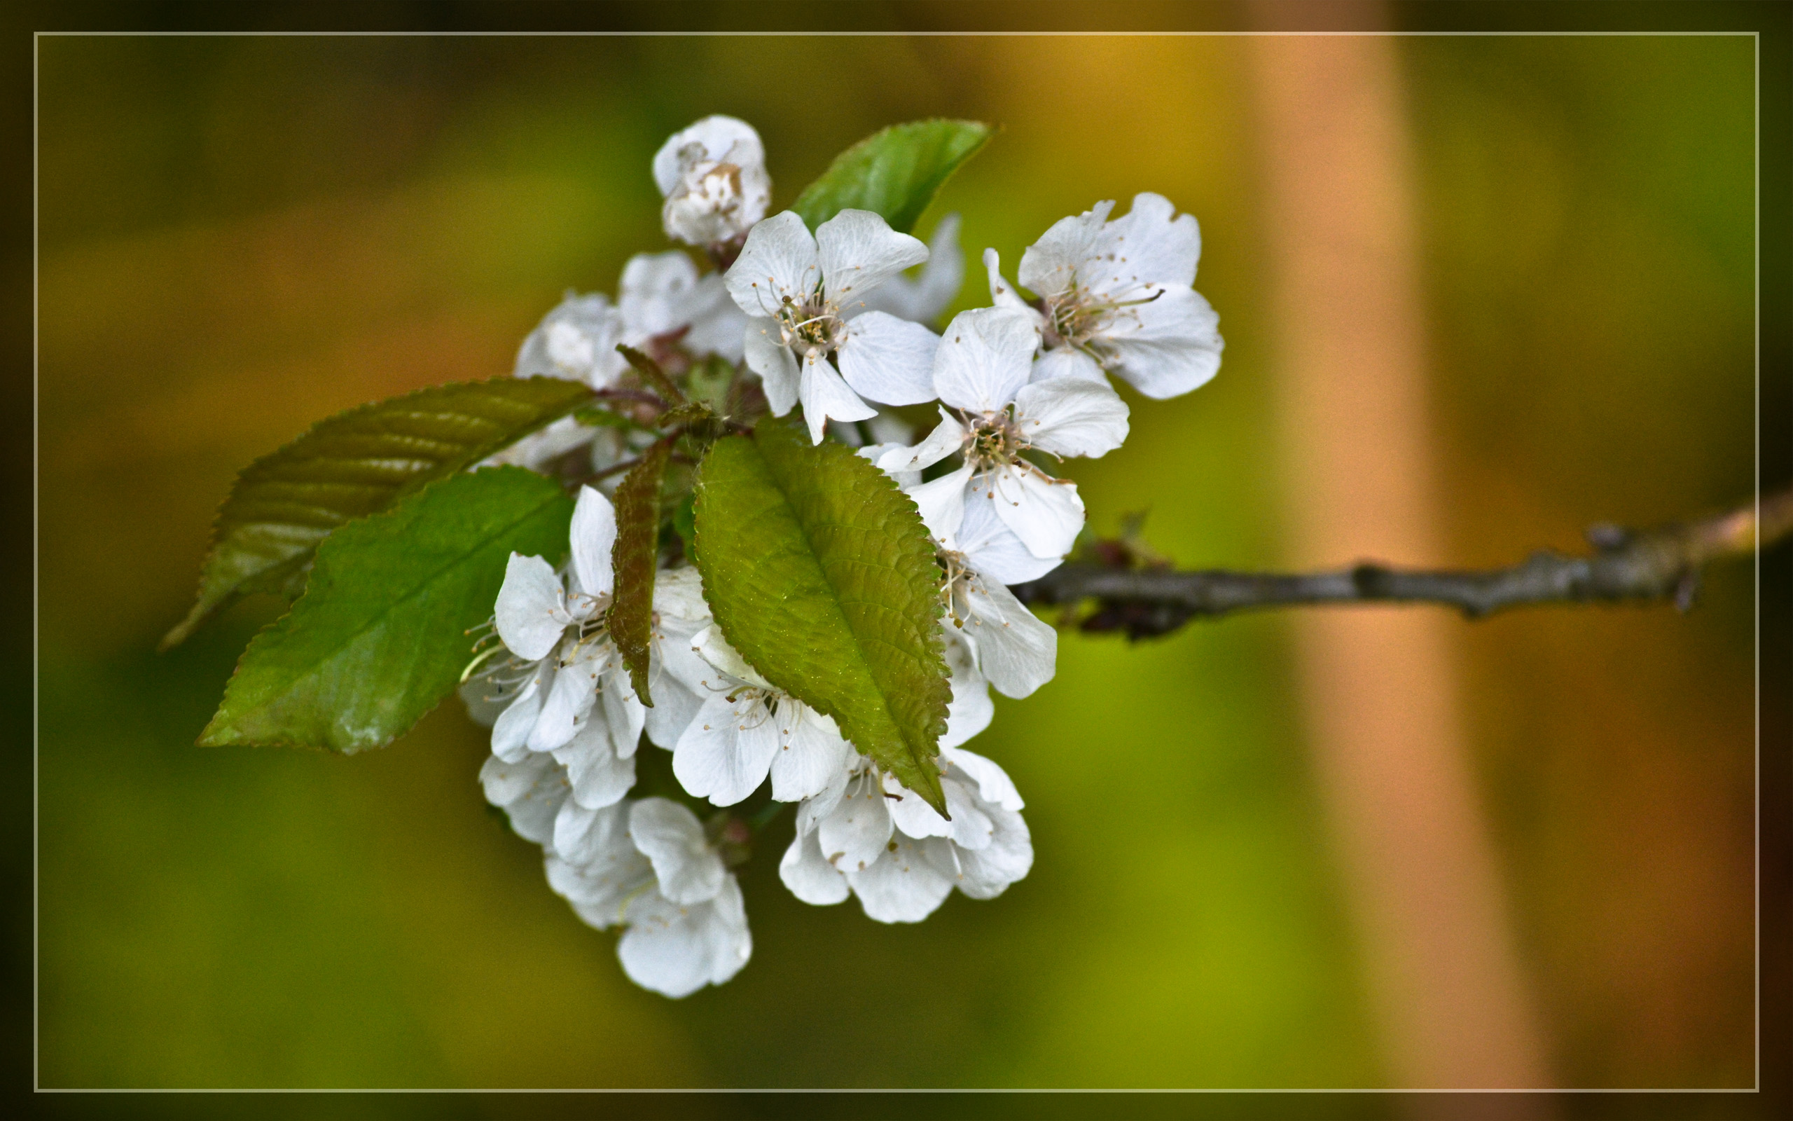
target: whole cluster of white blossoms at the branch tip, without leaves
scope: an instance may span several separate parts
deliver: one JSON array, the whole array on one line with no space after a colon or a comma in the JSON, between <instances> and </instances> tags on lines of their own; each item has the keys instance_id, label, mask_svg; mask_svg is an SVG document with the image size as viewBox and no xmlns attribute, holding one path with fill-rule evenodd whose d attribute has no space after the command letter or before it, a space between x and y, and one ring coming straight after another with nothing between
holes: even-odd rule
<instances>
[{"instance_id":1,"label":"whole cluster of white blossoms at the branch tip, without leaves","mask_svg":"<svg viewBox=\"0 0 1793 1121\"><path fill-rule=\"evenodd\" d=\"M1192 287L1196 219L1155 194L1124 217L1099 203L1047 230L1020 260L1033 298L986 251L990 307L936 334L965 276L957 215L932 244L868 210L814 230L789 210L767 217L764 147L728 117L667 140L653 174L667 237L723 267L699 273L683 251L631 258L615 301L568 294L549 312L516 375L583 380L628 416L645 387L626 344L692 386L721 369L737 416L801 407L810 443L853 445L932 536L952 691L943 816L730 646L674 551L654 581L644 705L608 631L617 518L602 488L658 438L656 413L615 427L567 418L498 456L547 470L577 452L597 486L579 490L567 565L511 556L493 610L502 646L463 689L491 726L486 796L543 847L549 884L581 918L624 927L629 978L685 995L749 956L730 868L780 804L796 804L780 877L810 904L855 895L873 920L918 922L954 888L992 899L1027 875L1022 798L963 744L990 725L992 687L1024 698L1054 673L1056 631L1009 592L1061 563L1085 522L1076 484L1049 465L1126 439L1108 375L1149 398L1187 393L1214 377L1221 337ZM898 413L931 404L938 423L920 432ZM644 741L667 755L644 755ZM658 784L638 782L642 759Z\"/></svg>"}]
</instances>

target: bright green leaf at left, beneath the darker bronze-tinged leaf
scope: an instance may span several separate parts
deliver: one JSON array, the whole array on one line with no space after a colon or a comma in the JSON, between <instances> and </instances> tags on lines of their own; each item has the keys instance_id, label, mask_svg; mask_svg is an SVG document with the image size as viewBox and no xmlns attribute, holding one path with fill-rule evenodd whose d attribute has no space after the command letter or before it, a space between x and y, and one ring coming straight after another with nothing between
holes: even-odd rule
<instances>
[{"instance_id":1,"label":"bright green leaf at left, beneath the darker bronze-tinged leaf","mask_svg":"<svg viewBox=\"0 0 1793 1121\"><path fill-rule=\"evenodd\" d=\"M305 595L249 642L206 746L360 752L454 691L509 554L558 561L572 499L518 466L434 482L317 549Z\"/></svg>"}]
</instances>

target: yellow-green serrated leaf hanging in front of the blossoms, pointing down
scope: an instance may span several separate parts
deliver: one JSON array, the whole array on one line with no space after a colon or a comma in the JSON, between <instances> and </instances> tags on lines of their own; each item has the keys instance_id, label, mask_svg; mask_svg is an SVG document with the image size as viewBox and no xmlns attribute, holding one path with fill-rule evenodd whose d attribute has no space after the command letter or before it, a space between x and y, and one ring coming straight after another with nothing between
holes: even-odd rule
<instances>
[{"instance_id":1,"label":"yellow-green serrated leaf hanging in front of the blossoms, pointing down","mask_svg":"<svg viewBox=\"0 0 1793 1121\"><path fill-rule=\"evenodd\" d=\"M796 418L715 441L697 470L697 570L728 642L947 813L940 569L889 475Z\"/></svg>"}]
</instances>

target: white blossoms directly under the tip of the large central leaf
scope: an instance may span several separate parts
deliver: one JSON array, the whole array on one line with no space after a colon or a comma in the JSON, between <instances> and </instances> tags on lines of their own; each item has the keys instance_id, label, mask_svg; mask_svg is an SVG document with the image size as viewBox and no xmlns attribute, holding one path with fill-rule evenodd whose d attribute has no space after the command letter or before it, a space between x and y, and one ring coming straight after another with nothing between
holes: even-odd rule
<instances>
[{"instance_id":1,"label":"white blossoms directly under the tip of the large central leaf","mask_svg":"<svg viewBox=\"0 0 1793 1121\"><path fill-rule=\"evenodd\" d=\"M918 795L857 757L798 813L778 875L810 904L859 897L877 922L920 922L957 888L993 899L1033 866L1022 800L1008 773L965 748L941 748L941 818Z\"/></svg>"}]
</instances>

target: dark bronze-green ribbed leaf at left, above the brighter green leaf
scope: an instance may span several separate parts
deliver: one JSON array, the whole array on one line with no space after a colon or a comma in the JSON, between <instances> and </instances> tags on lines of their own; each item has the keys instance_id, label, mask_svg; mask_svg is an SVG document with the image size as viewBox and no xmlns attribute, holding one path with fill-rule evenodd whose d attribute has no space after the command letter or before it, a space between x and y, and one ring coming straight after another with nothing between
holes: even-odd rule
<instances>
[{"instance_id":1,"label":"dark bronze-green ribbed leaf at left, above the brighter green leaf","mask_svg":"<svg viewBox=\"0 0 1793 1121\"><path fill-rule=\"evenodd\" d=\"M592 400L581 382L454 382L339 413L251 463L219 511L199 601L169 649L249 592L305 585L305 565L337 526L385 509Z\"/></svg>"}]
</instances>

